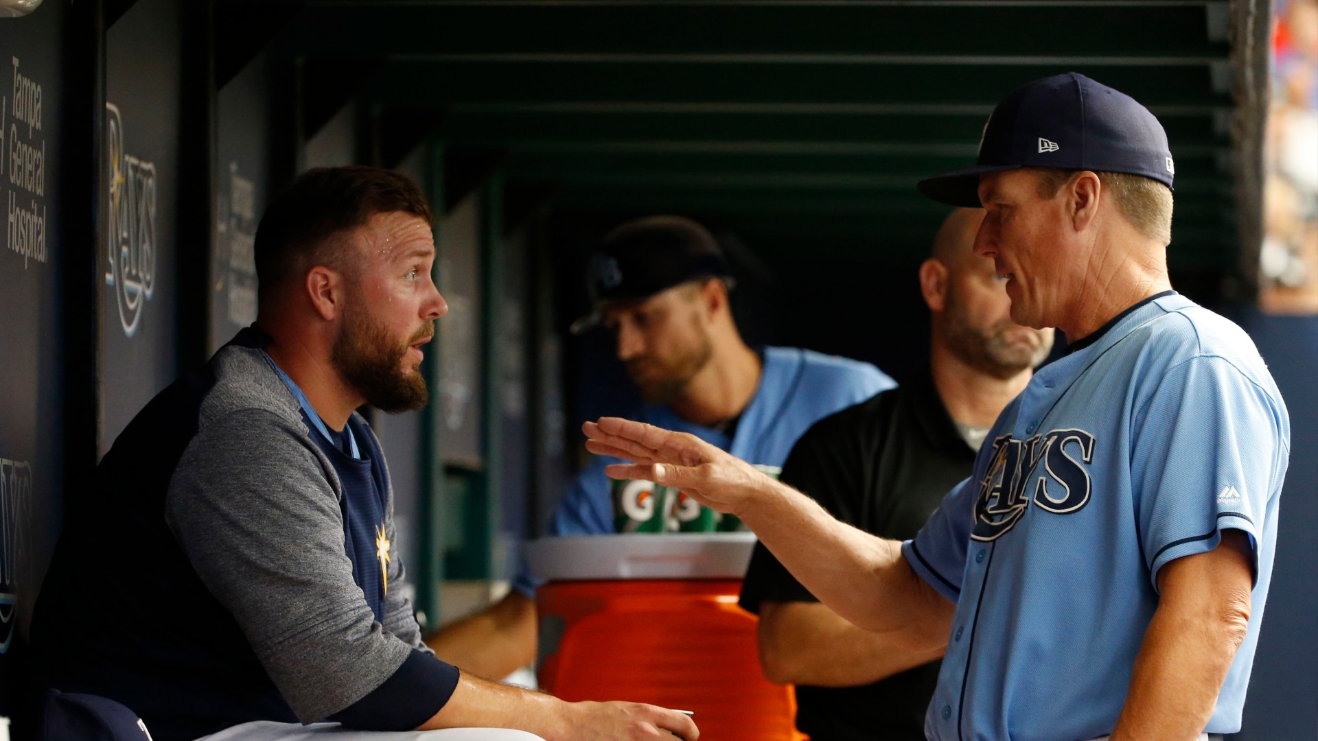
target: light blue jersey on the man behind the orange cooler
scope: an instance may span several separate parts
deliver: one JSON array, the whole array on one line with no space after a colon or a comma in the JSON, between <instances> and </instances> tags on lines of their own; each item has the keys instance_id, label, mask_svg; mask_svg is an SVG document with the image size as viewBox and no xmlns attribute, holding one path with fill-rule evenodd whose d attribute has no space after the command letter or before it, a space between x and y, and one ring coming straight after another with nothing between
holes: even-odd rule
<instances>
[{"instance_id":1,"label":"light blue jersey on the man behind the orange cooler","mask_svg":"<svg viewBox=\"0 0 1318 741\"><path fill-rule=\"evenodd\" d=\"M737 421L731 439L725 432L688 422L667 406L646 406L642 422L691 432L749 463L782 465L796 439L815 422L896 386L882 370L857 360L792 347L767 347L759 388ZM546 535L602 535L613 533L613 496L604 467L619 463L593 456L554 512ZM527 568L513 588L532 596L539 581Z\"/></svg>"}]
</instances>

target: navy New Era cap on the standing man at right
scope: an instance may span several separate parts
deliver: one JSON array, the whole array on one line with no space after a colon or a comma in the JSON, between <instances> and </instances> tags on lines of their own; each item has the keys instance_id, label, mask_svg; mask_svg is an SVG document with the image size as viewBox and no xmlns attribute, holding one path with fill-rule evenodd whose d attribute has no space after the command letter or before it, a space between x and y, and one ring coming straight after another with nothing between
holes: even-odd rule
<instances>
[{"instance_id":1,"label":"navy New Era cap on the standing man at right","mask_svg":"<svg viewBox=\"0 0 1318 741\"><path fill-rule=\"evenodd\" d=\"M924 195L978 208L979 175L1058 167L1144 175L1172 187L1162 124L1133 98L1066 73L1016 88L994 108L973 167L920 181Z\"/></svg>"}]
</instances>

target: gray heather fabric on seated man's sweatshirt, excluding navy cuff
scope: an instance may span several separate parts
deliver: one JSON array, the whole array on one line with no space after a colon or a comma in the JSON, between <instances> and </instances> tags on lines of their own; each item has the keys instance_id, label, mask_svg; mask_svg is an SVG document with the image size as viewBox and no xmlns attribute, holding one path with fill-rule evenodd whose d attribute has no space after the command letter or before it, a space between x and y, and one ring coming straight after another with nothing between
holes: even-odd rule
<instances>
[{"instance_id":1,"label":"gray heather fabric on seated man's sweatshirt, excluding navy cuff","mask_svg":"<svg viewBox=\"0 0 1318 741\"><path fill-rule=\"evenodd\" d=\"M376 622L344 551L339 477L264 353L228 347L214 368L165 518L293 712L311 723L381 686L413 649L430 649L403 589L389 589L385 624ZM387 498L393 539L393 490ZM394 558L389 583L402 581Z\"/></svg>"}]
</instances>

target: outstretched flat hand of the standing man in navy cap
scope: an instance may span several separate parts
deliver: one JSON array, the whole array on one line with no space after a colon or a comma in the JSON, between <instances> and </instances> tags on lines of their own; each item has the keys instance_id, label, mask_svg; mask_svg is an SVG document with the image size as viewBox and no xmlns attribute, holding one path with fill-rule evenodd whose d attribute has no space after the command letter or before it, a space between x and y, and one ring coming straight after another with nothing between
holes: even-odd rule
<instances>
[{"instance_id":1,"label":"outstretched flat hand of the standing man in navy cap","mask_svg":"<svg viewBox=\"0 0 1318 741\"><path fill-rule=\"evenodd\" d=\"M585 447L633 463L605 467L610 479L638 479L672 487L718 512L741 516L757 492L774 480L749 463L688 432L617 417L581 426Z\"/></svg>"}]
</instances>

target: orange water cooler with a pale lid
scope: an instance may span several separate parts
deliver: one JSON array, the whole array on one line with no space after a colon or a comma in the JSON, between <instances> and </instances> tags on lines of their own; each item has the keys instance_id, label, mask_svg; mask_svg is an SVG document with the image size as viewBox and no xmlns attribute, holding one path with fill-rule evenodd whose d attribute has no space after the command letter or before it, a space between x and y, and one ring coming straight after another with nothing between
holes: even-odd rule
<instances>
[{"instance_id":1,"label":"orange water cooler with a pale lid","mask_svg":"<svg viewBox=\"0 0 1318 741\"><path fill-rule=\"evenodd\" d=\"M544 538L530 545L540 688L564 700L695 711L702 741L799 741L791 687L764 679L737 607L750 533Z\"/></svg>"}]
</instances>

